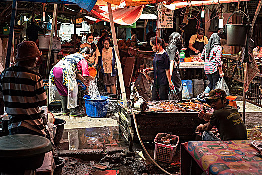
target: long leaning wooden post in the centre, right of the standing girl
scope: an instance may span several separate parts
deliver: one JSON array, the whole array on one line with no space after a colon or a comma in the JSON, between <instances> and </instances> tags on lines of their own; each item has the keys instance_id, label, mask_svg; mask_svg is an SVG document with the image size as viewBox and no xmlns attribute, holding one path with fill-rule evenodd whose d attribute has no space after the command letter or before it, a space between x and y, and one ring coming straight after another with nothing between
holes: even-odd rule
<instances>
[{"instance_id":1,"label":"long leaning wooden post in the centre, right of the standing girl","mask_svg":"<svg viewBox=\"0 0 262 175\"><path fill-rule=\"evenodd\" d=\"M121 66L121 62L120 62L119 49L118 49L116 33L115 33L115 28L114 28L114 22L113 22L112 7L111 7L111 4L108 3L108 2L107 2L107 6L108 6L108 11L109 11L110 25L111 25L112 36L113 36L113 45L114 45L114 50L116 52L116 54L115 54L116 64L117 64L117 69L118 69L118 77L119 77L119 81L120 81L121 94L122 94L122 98L123 98L123 106L127 107L127 99L126 99L126 93L125 93L125 87L124 87L124 81L123 81L122 66Z\"/></svg>"}]
</instances>

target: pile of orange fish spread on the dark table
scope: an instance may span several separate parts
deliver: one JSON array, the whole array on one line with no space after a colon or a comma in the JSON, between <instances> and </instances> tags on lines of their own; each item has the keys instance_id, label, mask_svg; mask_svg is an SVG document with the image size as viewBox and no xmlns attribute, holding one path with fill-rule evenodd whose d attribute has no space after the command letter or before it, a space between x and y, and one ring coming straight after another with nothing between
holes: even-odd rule
<instances>
[{"instance_id":1,"label":"pile of orange fish spread on the dark table","mask_svg":"<svg viewBox=\"0 0 262 175\"><path fill-rule=\"evenodd\" d=\"M208 104L198 100L174 100L174 101L149 101L149 109L152 112L200 112L205 106L207 112L213 112Z\"/></svg>"}]
</instances>

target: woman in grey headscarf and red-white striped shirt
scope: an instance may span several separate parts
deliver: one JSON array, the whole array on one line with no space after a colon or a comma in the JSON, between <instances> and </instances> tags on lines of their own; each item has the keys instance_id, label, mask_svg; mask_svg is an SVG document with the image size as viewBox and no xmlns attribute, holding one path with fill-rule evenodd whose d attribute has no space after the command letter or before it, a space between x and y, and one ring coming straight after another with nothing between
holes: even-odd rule
<instances>
[{"instance_id":1,"label":"woman in grey headscarf and red-white striped shirt","mask_svg":"<svg viewBox=\"0 0 262 175\"><path fill-rule=\"evenodd\" d=\"M215 84L218 82L219 77L224 76L221 57L222 47L220 37L217 33L213 33L201 55L201 58L204 59L204 72L210 81L204 90L205 93L209 93L215 89Z\"/></svg>"}]
</instances>

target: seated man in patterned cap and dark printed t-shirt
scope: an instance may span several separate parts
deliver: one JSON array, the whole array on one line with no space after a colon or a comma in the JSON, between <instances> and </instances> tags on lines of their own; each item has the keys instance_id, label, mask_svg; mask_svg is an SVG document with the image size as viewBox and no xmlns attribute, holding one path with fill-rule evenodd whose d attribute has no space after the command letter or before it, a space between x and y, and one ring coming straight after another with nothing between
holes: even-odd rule
<instances>
[{"instance_id":1,"label":"seated man in patterned cap and dark printed t-shirt","mask_svg":"<svg viewBox=\"0 0 262 175\"><path fill-rule=\"evenodd\" d=\"M235 107L229 106L225 91L221 89L212 90L209 93L207 103L214 109L214 113L208 113L203 108L198 117L208 123L197 127L202 133L202 140L216 141L218 139L210 130L216 126L221 135L221 140L247 140L247 131Z\"/></svg>"}]
</instances>

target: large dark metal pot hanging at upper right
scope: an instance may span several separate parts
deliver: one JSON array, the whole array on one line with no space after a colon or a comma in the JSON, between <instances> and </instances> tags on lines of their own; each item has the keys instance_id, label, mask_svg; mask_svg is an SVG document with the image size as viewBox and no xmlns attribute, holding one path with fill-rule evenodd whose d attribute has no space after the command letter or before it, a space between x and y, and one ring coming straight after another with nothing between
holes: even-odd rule
<instances>
[{"instance_id":1,"label":"large dark metal pot hanging at upper right","mask_svg":"<svg viewBox=\"0 0 262 175\"><path fill-rule=\"evenodd\" d=\"M229 46L245 46L247 25L226 24L226 44Z\"/></svg>"}]
</instances>

